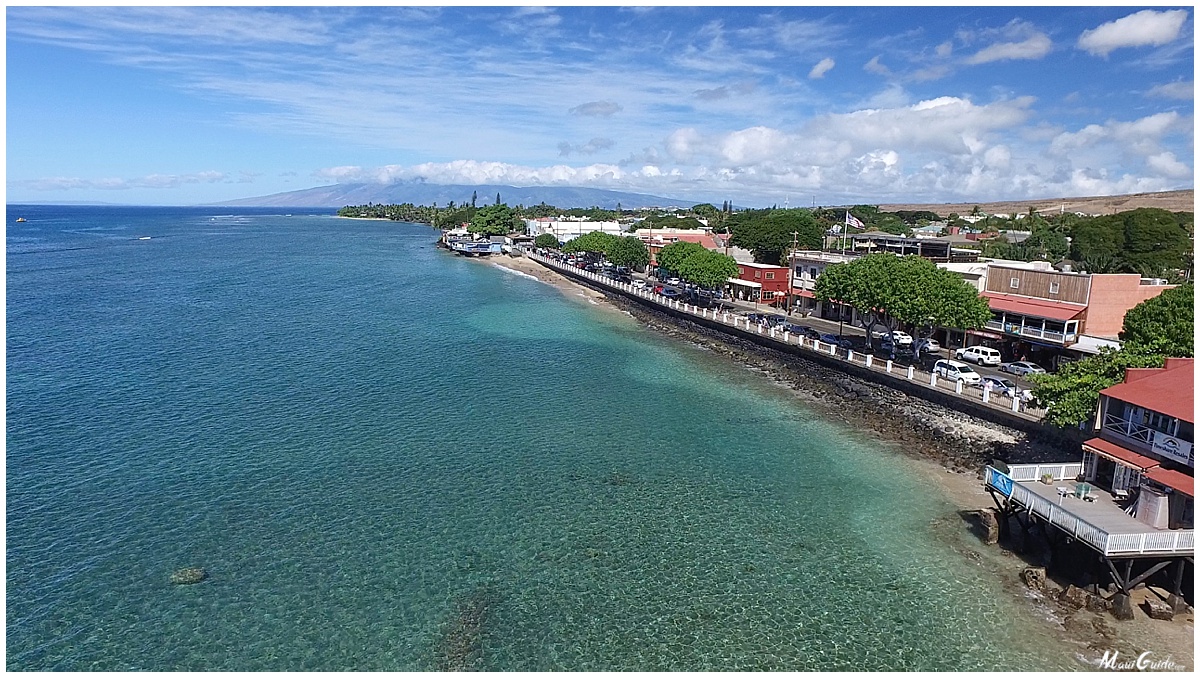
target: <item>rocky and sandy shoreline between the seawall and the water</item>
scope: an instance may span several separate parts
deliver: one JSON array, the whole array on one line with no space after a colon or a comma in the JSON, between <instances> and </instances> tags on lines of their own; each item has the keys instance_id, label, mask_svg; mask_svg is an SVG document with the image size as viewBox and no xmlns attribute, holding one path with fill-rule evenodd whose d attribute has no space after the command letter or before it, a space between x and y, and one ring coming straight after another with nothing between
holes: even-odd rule
<instances>
[{"instance_id":1,"label":"rocky and sandy shoreline between the seawall and the water","mask_svg":"<svg viewBox=\"0 0 1200 678\"><path fill-rule=\"evenodd\" d=\"M1030 439L1022 432L977 420L966 414L871 384L836 370L808 362L802 358L772 352L757 344L686 320L656 313L654 310L622 298L607 296L568 278L526 257L503 257L493 262L540 282L551 284L571 299L587 299L628 313L647 329L670 338L707 349L734 364L757 372L821 416L840 421L859 436L887 445L906 458L936 491L938 499L956 510L962 521L967 548L962 557L986 570L1015 599L1030 606L1046 624L1046 632L1063 641L1063 650L1074 654L1080 670L1097 670L1105 650L1136 659L1152 653L1159 660L1172 656L1177 667L1194 666L1194 612L1177 614L1175 620L1150 619L1138 606L1146 590L1134 599L1136 617L1118 622L1108 613L1073 610L1020 581L1024 568L1040 565L1036 557L1022 556L996 545L986 546L971 533L968 514L992 508L991 496L983 488L982 468L992 458L1010 463L1054 461L1072 450L1050 440ZM1078 454L1078 451L1076 451ZM1064 587L1063 587L1064 588Z\"/></svg>"}]
</instances>

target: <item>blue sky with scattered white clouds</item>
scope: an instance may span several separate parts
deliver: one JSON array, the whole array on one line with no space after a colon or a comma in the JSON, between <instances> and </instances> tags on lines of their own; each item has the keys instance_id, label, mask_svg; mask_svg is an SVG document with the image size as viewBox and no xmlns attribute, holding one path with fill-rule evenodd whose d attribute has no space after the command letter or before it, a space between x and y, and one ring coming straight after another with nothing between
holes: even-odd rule
<instances>
[{"instance_id":1,"label":"blue sky with scattered white clouds","mask_svg":"<svg viewBox=\"0 0 1200 678\"><path fill-rule=\"evenodd\" d=\"M1190 188L1192 7L8 7L7 199Z\"/></svg>"}]
</instances>

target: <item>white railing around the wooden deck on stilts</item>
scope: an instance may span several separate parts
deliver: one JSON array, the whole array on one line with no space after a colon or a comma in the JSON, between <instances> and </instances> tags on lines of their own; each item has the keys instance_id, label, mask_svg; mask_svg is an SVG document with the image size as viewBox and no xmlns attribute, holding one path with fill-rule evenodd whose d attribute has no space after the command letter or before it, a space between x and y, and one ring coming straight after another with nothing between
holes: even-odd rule
<instances>
[{"instance_id":1,"label":"white railing around the wooden deck on stilts","mask_svg":"<svg viewBox=\"0 0 1200 678\"><path fill-rule=\"evenodd\" d=\"M1010 467L1009 470L1018 468L1024 472L1027 467L1033 466L1036 464ZM1063 467L1068 469L1076 464L1040 466L1050 468ZM1022 475L1027 474L1022 473ZM1057 478L1056 480L1066 480L1068 478L1074 478L1074 475L1067 475L1064 470L1063 478ZM1056 504L1054 500L1022 486L1021 481L1016 478L990 466L984 469L984 484L1008 497L1025 511L1044 518L1050 524L1105 556L1190 556L1195 553L1195 532L1190 529L1154 529L1147 526L1144 532L1111 533L1079 516L1069 508ZM1114 508L1114 510L1117 509Z\"/></svg>"}]
</instances>

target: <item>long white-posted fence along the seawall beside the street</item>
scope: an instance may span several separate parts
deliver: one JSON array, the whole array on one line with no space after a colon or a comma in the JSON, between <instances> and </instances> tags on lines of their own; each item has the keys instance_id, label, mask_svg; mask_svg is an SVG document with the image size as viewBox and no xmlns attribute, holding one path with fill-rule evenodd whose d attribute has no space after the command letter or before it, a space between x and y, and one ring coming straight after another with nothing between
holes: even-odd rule
<instances>
[{"instance_id":1,"label":"long white-posted fence along the seawall beside the street","mask_svg":"<svg viewBox=\"0 0 1200 678\"><path fill-rule=\"evenodd\" d=\"M592 283L600 287L607 287L611 289L620 290L628 295L637 296L638 299L661 306L664 308L671 308L697 318L706 318L724 325L728 325L734 329L743 330L745 332L761 335L763 338L779 342L781 344L797 346L805 350L811 350L816 353L822 353L826 355L832 355L840 358L848 362L853 362L860 367L868 370L884 373L890 376L893 379L902 379L914 384L920 384L924 388L932 389L943 394L953 394L954 396L972 400L976 402L982 402L983 404L994 409L1009 410L1018 416L1024 416L1030 420L1038 420L1045 414L1045 409L1037 408L1032 406L1021 406L1020 398L1010 398L997 391L983 390L978 386L968 386L961 382L952 382L948 379L940 379L935 374L926 372L922 367L916 365L900 365L892 360L878 360L875 355L870 353L856 352L853 349L841 348L828 342L822 342L820 340L805 338L800 335L794 335L786 332L775 328L764 328L762 325L752 323L749 318L740 313L722 311L719 308L706 308L703 306L696 306L688 304L686 301L680 301L678 299L667 299L660 294L654 293L648 288L637 288L628 282L618 282L610 277L578 269L564 264L562 262L551 259L542 254L538 254L533 251L527 251L526 256L530 259L552 269L558 270L569 275L583 277Z\"/></svg>"}]
</instances>

